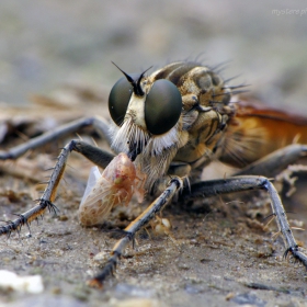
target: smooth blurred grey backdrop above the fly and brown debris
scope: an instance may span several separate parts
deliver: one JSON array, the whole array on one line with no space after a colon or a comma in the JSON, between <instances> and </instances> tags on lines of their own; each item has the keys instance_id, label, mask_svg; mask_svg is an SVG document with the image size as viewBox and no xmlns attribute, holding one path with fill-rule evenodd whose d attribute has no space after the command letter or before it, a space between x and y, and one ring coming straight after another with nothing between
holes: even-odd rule
<instances>
[{"instance_id":1,"label":"smooth blurred grey backdrop above the fly and brown debris","mask_svg":"<svg viewBox=\"0 0 307 307\"><path fill-rule=\"evenodd\" d=\"M29 0L0 3L0 101L25 104L62 84L105 91L127 72L173 60L227 62L225 78L307 114L304 0ZM151 70L152 71L152 70ZM303 110L302 110L303 109Z\"/></svg>"}]
</instances>

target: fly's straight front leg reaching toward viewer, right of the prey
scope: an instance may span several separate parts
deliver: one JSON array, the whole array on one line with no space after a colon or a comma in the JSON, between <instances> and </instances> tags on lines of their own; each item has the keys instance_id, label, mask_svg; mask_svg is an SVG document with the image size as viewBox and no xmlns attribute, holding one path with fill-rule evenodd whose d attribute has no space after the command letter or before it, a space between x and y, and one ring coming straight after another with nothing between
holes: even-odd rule
<instances>
[{"instance_id":1,"label":"fly's straight front leg reaching toward viewer, right of the prey","mask_svg":"<svg viewBox=\"0 0 307 307\"><path fill-rule=\"evenodd\" d=\"M121 258L126 246L134 240L136 232L150 220L152 220L156 214L161 212L161 209L171 201L179 189L182 187L182 184L183 183L180 178L173 178L164 192L161 193L161 195L156 201L154 201L143 214L140 214L125 228L125 236L116 242L103 270L95 277L89 281L89 285L102 287L104 280L112 275L115 271L118 259Z\"/></svg>"}]
</instances>

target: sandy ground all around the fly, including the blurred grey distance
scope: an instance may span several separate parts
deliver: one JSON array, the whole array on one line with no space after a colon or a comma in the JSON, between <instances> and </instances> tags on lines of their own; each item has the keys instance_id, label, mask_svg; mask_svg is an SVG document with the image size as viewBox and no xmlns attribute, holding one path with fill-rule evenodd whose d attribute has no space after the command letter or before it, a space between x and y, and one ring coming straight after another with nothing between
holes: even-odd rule
<instances>
[{"instance_id":1,"label":"sandy ground all around the fly, including the blurred grey distance","mask_svg":"<svg viewBox=\"0 0 307 307\"><path fill-rule=\"evenodd\" d=\"M231 60L226 78L241 73L236 82L251 84L252 95L307 115L305 10L305 1L281 0L132 0L120 7L111 0L2 1L0 147L80 116L107 117L110 87L121 77L111 60L127 72L177 59L198 57L212 66ZM91 130L80 135L91 141L88 132L106 146ZM44 170L71 137L1 162L1 220L33 206ZM101 265L95 255L116 241L110 228L124 227L144 207L132 204L102 228L81 227L77 209L91 163L72 155L69 166L56 201L60 214L33 223L31 237L23 227L20 237L0 240L1 269L41 275L44 292L0 291L1 306L307 306L306 270L283 260L274 223L262 225L270 215L266 195L257 192L204 201L193 211L171 204L163 212L171 237L141 231L103 291L89 288L87 280ZM305 182L284 202L292 225L306 227ZM306 231L295 236L306 247Z\"/></svg>"}]
</instances>

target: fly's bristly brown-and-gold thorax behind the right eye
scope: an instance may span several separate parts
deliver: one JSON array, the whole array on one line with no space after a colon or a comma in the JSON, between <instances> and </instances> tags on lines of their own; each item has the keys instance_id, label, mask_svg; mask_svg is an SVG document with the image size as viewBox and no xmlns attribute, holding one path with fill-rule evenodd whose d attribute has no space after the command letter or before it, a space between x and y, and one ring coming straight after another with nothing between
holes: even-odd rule
<instances>
[{"instance_id":1,"label":"fly's bristly brown-and-gold thorax behind the right eye","mask_svg":"<svg viewBox=\"0 0 307 307\"><path fill-rule=\"evenodd\" d=\"M158 71L156 78L173 81L182 94L183 129L189 140L179 148L174 160L195 163L209 160L223 136L229 118L231 89L208 67L193 62L177 62Z\"/></svg>"}]
</instances>

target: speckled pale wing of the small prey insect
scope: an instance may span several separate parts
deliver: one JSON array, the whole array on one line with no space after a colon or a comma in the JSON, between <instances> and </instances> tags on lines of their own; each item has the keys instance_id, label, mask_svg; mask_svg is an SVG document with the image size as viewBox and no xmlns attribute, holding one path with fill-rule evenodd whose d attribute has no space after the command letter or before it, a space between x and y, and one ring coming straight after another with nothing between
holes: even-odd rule
<instances>
[{"instance_id":1,"label":"speckled pale wing of the small prey insect","mask_svg":"<svg viewBox=\"0 0 307 307\"><path fill-rule=\"evenodd\" d=\"M84 226L102 224L117 201L111 181L100 177L79 207L79 220Z\"/></svg>"}]
</instances>

